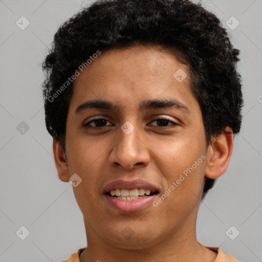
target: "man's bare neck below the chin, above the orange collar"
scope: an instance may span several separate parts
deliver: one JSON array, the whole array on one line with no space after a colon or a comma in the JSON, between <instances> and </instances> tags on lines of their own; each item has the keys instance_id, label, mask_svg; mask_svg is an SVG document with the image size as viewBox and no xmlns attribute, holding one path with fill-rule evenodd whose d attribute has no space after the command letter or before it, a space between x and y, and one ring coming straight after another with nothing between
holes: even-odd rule
<instances>
[{"instance_id":1,"label":"man's bare neck below the chin, above the orange collar","mask_svg":"<svg viewBox=\"0 0 262 262\"><path fill-rule=\"evenodd\" d=\"M178 231L170 230L168 234L150 243L140 243L138 238L135 245L133 242L132 249L128 245L120 247L119 242L106 241L93 230L88 222L84 222L88 247L81 253L80 262L99 260L106 262L122 260L125 262L213 262L217 255L197 241L195 223L192 221L182 225Z\"/></svg>"}]
</instances>

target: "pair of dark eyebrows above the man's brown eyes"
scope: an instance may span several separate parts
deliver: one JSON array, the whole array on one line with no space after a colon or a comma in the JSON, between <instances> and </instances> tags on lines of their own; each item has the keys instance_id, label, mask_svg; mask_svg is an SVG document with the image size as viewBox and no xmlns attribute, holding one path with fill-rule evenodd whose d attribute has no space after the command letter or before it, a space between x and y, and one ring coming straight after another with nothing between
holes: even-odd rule
<instances>
[{"instance_id":1,"label":"pair of dark eyebrows above the man's brown eyes","mask_svg":"<svg viewBox=\"0 0 262 262\"><path fill-rule=\"evenodd\" d=\"M139 110L145 111L148 109L158 109L158 108L178 108L180 110L187 111L187 113L191 113L189 108L179 102L176 99L153 99L153 100L144 100L140 102L139 104ZM111 111L119 111L120 107L117 104L114 104L110 101L106 100L89 100L81 103L76 108L76 114L79 114L80 112L86 110L87 108L97 108L97 109L105 109L105 110L111 110Z\"/></svg>"}]
</instances>

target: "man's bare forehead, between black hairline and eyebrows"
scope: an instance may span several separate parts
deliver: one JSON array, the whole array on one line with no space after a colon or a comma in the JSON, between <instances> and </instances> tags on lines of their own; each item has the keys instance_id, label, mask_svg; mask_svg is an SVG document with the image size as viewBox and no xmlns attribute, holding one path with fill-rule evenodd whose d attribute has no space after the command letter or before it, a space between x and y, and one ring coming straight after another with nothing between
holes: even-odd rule
<instances>
[{"instance_id":1,"label":"man's bare forehead, between black hairline and eyebrows","mask_svg":"<svg viewBox=\"0 0 262 262\"><path fill-rule=\"evenodd\" d=\"M129 87L150 95L158 93L161 87L166 88L167 84L180 86L178 92L190 86L188 65L180 63L174 54L159 47L111 49L92 60L75 79L74 91L127 92ZM179 82L181 77L183 82Z\"/></svg>"}]
</instances>

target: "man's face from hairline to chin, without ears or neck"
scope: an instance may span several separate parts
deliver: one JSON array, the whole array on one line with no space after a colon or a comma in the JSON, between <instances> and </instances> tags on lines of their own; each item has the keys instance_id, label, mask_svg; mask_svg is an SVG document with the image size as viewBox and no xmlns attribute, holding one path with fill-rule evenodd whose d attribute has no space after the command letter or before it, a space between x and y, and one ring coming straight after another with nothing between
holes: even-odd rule
<instances>
[{"instance_id":1,"label":"man's face from hairline to chin, without ears or neck","mask_svg":"<svg viewBox=\"0 0 262 262\"><path fill-rule=\"evenodd\" d=\"M190 80L186 65L152 47L102 52L76 78L65 149L70 176L82 179L73 190L90 239L141 249L194 231L206 140ZM158 193L104 194L135 188Z\"/></svg>"}]
</instances>

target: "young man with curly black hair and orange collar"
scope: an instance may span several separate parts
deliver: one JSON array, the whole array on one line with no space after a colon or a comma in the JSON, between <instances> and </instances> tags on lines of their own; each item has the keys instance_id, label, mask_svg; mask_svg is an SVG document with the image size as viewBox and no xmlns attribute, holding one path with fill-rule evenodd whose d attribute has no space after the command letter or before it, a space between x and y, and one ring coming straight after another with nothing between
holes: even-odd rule
<instances>
[{"instance_id":1,"label":"young man with curly black hair and orange collar","mask_svg":"<svg viewBox=\"0 0 262 262\"><path fill-rule=\"evenodd\" d=\"M99 1L58 29L46 126L88 242L67 261L237 261L195 226L241 127L238 54L187 0Z\"/></svg>"}]
</instances>

